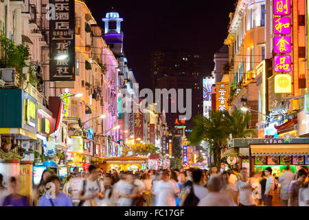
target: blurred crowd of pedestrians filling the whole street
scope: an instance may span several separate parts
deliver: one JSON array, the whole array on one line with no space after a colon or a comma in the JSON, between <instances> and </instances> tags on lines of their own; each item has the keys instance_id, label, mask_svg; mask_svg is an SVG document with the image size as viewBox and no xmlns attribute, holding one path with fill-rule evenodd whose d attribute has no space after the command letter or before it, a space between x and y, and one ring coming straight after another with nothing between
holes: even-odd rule
<instances>
[{"instance_id":1,"label":"blurred crowd of pedestrians filling the whole street","mask_svg":"<svg viewBox=\"0 0 309 220\"><path fill-rule=\"evenodd\" d=\"M308 167L292 173L286 166L279 178L271 167L248 177L247 168L218 172L187 170L144 170L135 173L104 173L93 165L89 172L78 168L63 184L52 170L45 170L34 188L32 200L19 194L15 177L8 188L2 185L2 206L273 206L277 188L282 206L309 206Z\"/></svg>"}]
</instances>

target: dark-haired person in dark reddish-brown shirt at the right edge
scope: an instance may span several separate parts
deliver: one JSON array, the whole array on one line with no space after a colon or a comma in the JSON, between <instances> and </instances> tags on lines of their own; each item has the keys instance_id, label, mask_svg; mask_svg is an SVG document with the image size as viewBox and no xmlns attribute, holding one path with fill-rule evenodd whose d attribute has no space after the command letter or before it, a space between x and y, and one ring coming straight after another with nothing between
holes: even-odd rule
<instances>
[{"instance_id":1,"label":"dark-haired person in dark reddish-brown shirt at the right edge","mask_svg":"<svg viewBox=\"0 0 309 220\"><path fill-rule=\"evenodd\" d=\"M300 169L297 172L296 179L290 182L290 186L288 186L288 206L299 206L299 189L307 175L305 169Z\"/></svg>"}]
</instances>

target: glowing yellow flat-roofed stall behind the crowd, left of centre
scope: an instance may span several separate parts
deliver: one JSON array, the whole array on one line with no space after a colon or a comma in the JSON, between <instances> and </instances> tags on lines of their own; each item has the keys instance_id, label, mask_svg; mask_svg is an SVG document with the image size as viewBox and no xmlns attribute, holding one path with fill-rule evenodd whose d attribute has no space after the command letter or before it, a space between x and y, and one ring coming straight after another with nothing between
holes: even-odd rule
<instances>
[{"instance_id":1,"label":"glowing yellow flat-roofed stall behind the crowd, left of centre","mask_svg":"<svg viewBox=\"0 0 309 220\"><path fill-rule=\"evenodd\" d=\"M99 167L103 168L105 173L108 173L110 170L136 171L141 170L142 164L146 164L147 161L148 157L106 157L100 159Z\"/></svg>"}]
</instances>

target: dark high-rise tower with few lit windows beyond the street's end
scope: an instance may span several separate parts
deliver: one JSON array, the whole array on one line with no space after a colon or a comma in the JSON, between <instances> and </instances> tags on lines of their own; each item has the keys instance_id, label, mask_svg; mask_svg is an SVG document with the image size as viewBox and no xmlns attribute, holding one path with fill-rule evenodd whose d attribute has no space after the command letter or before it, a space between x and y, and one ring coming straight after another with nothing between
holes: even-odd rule
<instances>
[{"instance_id":1,"label":"dark high-rise tower with few lit windows beyond the street's end","mask_svg":"<svg viewBox=\"0 0 309 220\"><path fill-rule=\"evenodd\" d=\"M203 113L203 60L192 52L152 52L151 54L152 90L192 89L192 117L186 119L190 126L195 115ZM155 93L154 93L155 94ZM185 92L184 92L185 94ZM184 103L187 98L185 97ZM169 103L177 103L178 99ZM161 109L162 111L162 109ZM179 120L179 111L171 113L165 109L166 121L172 128Z\"/></svg>"}]
</instances>

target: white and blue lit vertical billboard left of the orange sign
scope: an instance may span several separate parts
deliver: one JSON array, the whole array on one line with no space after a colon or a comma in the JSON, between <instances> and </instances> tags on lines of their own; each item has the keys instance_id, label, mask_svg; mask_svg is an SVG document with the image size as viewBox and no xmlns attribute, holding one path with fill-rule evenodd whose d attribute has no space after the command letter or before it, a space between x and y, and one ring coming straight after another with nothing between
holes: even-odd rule
<instances>
[{"instance_id":1,"label":"white and blue lit vertical billboard left of the orange sign","mask_svg":"<svg viewBox=\"0 0 309 220\"><path fill-rule=\"evenodd\" d=\"M203 78L203 115L206 118L209 118L209 111L211 111L211 86L213 84L213 77Z\"/></svg>"}]
</instances>

